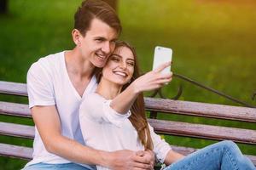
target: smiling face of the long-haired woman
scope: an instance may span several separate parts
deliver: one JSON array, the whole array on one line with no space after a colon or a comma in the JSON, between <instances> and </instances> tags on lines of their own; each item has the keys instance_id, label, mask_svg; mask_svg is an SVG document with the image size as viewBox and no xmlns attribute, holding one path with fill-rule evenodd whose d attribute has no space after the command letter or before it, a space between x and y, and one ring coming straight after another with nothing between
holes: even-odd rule
<instances>
[{"instance_id":1,"label":"smiling face of the long-haired woman","mask_svg":"<svg viewBox=\"0 0 256 170\"><path fill-rule=\"evenodd\" d=\"M125 85L131 80L134 72L135 59L130 48L119 47L109 57L102 70L102 78L109 82Z\"/></svg>"}]
</instances>

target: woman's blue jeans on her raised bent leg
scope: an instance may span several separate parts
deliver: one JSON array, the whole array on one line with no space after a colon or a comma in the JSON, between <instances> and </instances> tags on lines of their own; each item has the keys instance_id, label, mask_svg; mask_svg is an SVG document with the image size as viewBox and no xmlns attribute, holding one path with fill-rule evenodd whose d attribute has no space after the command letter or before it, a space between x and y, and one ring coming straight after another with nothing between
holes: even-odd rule
<instances>
[{"instance_id":1,"label":"woman's blue jeans on her raised bent leg","mask_svg":"<svg viewBox=\"0 0 256 170\"><path fill-rule=\"evenodd\" d=\"M197 150L165 170L255 170L232 141L222 141Z\"/></svg>"}]
</instances>

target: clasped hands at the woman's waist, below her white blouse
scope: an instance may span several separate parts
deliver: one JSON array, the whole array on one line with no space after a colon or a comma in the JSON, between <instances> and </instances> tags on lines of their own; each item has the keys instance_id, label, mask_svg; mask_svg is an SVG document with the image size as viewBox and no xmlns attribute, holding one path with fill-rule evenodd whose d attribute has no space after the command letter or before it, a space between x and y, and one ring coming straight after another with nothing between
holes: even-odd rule
<instances>
[{"instance_id":1,"label":"clasped hands at the woman's waist, below her white blouse","mask_svg":"<svg viewBox=\"0 0 256 170\"><path fill-rule=\"evenodd\" d=\"M107 167L113 170L154 170L154 156L149 151L118 150L110 153Z\"/></svg>"}]
</instances>

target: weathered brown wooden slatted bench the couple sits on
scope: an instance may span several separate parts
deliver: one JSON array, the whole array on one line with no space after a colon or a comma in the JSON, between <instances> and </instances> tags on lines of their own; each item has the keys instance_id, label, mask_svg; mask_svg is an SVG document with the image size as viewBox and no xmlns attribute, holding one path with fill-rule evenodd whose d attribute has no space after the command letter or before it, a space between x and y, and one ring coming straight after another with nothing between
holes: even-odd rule
<instances>
[{"instance_id":1,"label":"weathered brown wooden slatted bench the couple sits on","mask_svg":"<svg viewBox=\"0 0 256 170\"><path fill-rule=\"evenodd\" d=\"M0 81L0 94L27 96L26 84ZM153 98L145 98L145 105L147 111L150 111L150 114L153 117L156 116L157 112L163 112L166 114L201 116L224 120L236 120L239 122L252 122L256 124L255 108ZM32 118L28 105L5 101L0 101L0 114ZM236 143L253 144L253 146L256 146L256 130L237 127L219 127L189 122L174 122L152 118L149 118L148 122L154 127L157 133L200 139L229 139ZM34 127L10 122L0 122L0 134L24 139L33 139ZM184 155L188 155L196 150L194 148L181 146L172 146L172 148ZM0 143L0 155L31 160L32 148ZM253 164L256 165L256 156L247 157L249 157L249 159L253 161Z\"/></svg>"}]
</instances>

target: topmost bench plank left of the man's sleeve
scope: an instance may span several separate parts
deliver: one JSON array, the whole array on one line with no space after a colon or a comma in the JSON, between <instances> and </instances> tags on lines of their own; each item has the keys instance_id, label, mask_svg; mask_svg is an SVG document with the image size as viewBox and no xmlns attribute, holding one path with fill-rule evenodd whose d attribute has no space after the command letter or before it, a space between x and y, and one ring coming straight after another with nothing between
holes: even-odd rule
<instances>
[{"instance_id":1,"label":"topmost bench plank left of the man's sleeve","mask_svg":"<svg viewBox=\"0 0 256 170\"><path fill-rule=\"evenodd\" d=\"M0 94L27 96L26 84L19 82L0 81Z\"/></svg>"}]
</instances>

